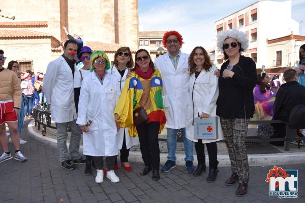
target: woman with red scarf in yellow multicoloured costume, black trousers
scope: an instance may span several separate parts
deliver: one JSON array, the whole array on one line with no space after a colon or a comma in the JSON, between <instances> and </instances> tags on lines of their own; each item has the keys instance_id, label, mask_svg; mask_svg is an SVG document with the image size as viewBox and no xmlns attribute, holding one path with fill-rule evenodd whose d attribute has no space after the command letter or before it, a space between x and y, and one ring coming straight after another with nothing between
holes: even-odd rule
<instances>
[{"instance_id":1,"label":"woman with red scarf in yellow multicoloured costume, black trousers","mask_svg":"<svg viewBox=\"0 0 305 203\"><path fill-rule=\"evenodd\" d=\"M140 175L146 175L153 169L153 180L159 180L160 149L158 135L166 123L162 100L162 77L155 69L149 53L140 49L135 56L136 65L117 102L114 115L120 127L129 127L131 137L139 136L144 169ZM143 107L148 120L134 126L133 111Z\"/></svg>"}]
</instances>

